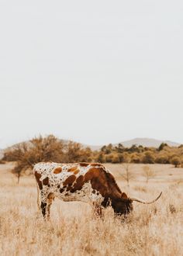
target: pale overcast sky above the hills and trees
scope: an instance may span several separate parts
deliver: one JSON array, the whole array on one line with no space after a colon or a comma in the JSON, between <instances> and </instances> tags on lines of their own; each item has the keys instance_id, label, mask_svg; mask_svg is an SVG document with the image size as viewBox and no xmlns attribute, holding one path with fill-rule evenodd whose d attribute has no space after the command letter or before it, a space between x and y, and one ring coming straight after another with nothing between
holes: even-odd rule
<instances>
[{"instance_id":1,"label":"pale overcast sky above the hills and trees","mask_svg":"<svg viewBox=\"0 0 183 256\"><path fill-rule=\"evenodd\" d=\"M183 143L183 2L0 0L0 148Z\"/></svg>"}]
</instances>

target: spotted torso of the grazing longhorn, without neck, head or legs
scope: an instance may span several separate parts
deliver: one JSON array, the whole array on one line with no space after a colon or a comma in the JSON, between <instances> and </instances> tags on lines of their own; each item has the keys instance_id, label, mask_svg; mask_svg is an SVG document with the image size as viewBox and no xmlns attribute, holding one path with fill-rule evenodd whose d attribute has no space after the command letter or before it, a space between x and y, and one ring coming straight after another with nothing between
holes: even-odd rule
<instances>
[{"instance_id":1,"label":"spotted torso of the grazing longhorn, without neck, head or legs","mask_svg":"<svg viewBox=\"0 0 183 256\"><path fill-rule=\"evenodd\" d=\"M99 203L108 189L105 178L108 171L98 163L38 163L33 172L41 194L45 197L53 193L64 201Z\"/></svg>"}]
</instances>

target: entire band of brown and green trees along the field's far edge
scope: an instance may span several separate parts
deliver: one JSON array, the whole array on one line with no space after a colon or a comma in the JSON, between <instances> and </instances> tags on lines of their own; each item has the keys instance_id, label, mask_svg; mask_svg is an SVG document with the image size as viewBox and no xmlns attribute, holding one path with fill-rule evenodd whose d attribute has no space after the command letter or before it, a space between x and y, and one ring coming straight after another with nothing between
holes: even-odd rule
<instances>
[{"instance_id":1,"label":"entire band of brown and green trees along the field's far edge","mask_svg":"<svg viewBox=\"0 0 183 256\"><path fill-rule=\"evenodd\" d=\"M16 144L5 150L2 161L15 161L12 172L18 176L40 161L54 161L60 163L100 162L100 163L143 163L143 164L174 164L183 167L183 145L169 147L161 144L160 147L143 147L133 145L123 147L109 144L100 150L91 150L73 141L65 142L54 135L35 137L27 143Z\"/></svg>"}]
</instances>

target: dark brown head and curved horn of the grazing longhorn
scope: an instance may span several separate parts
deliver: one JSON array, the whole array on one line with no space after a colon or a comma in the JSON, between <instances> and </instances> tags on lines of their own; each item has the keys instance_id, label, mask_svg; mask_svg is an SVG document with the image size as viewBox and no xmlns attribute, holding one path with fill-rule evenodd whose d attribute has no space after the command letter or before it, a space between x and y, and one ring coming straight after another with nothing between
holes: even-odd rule
<instances>
[{"instance_id":1,"label":"dark brown head and curved horn of the grazing longhorn","mask_svg":"<svg viewBox=\"0 0 183 256\"><path fill-rule=\"evenodd\" d=\"M112 200L112 208L114 209L114 212L116 214L126 215L133 210L133 201L141 202L144 204L150 204L150 203L156 202L157 199L159 199L161 197L161 194L162 194L162 192L160 193L160 195L157 196L156 199L154 199L150 202L146 202L146 201L144 201L142 199L138 199L136 197L128 198L126 193L122 193L121 198Z\"/></svg>"}]
</instances>

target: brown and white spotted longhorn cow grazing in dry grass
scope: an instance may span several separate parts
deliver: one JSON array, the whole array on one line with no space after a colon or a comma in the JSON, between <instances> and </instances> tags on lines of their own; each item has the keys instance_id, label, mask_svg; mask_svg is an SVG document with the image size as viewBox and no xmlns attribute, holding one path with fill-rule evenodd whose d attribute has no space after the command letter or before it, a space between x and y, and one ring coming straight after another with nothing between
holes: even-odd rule
<instances>
[{"instance_id":1,"label":"brown and white spotted longhorn cow grazing in dry grass","mask_svg":"<svg viewBox=\"0 0 183 256\"><path fill-rule=\"evenodd\" d=\"M54 197L64 201L91 202L95 212L101 215L102 207L109 204L117 214L126 215L133 209L132 202L144 202L129 198L121 192L115 178L98 163L58 164L53 162L38 163L33 168L37 185L40 189L43 216L50 216L50 206Z\"/></svg>"}]
</instances>

